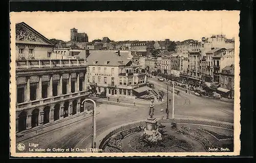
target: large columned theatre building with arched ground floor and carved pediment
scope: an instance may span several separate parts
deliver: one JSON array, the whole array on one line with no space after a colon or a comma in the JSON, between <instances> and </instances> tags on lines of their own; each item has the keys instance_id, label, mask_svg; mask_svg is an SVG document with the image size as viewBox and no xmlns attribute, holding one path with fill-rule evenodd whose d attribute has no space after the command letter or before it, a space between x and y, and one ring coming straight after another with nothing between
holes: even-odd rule
<instances>
[{"instance_id":1,"label":"large columned theatre building with arched ground floor and carved pediment","mask_svg":"<svg viewBox=\"0 0 256 163\"><path fill-rule=\"evenodd\" d=\"M16 24L16 132L84 111L84 59L48 59L54 44L24 22Z\"/></svg>"}]
</instances>

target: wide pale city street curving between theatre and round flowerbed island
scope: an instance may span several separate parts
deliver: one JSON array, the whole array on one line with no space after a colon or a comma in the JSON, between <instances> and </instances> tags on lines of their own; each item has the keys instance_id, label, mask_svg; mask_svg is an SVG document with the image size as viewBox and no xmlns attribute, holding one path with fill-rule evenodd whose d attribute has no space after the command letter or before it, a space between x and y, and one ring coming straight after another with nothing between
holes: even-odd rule
<instances>
[{"instance_id":1,"label":"wide pale city street curving between theatre and round flowerbed island","mask_svg":"<svg viewBox=\"0 0 256 163\"><path fill-rule=\"evenodd\" d=\"M155 84L155 90L159 87L165 92L163 103L155 104L154 117L161 118L161 108L165 110L167 105L167 87L166 82L159 82L156 78L148 79ZM169 90L172 89L169 86ZM172 98L169 91L169 98ZM169 103L169 118L172 118L172 102ZM145 120L148 117L149 103L143 102L140 106L144 107L125 107L111 104L101 104L97 107L99 114L96 116L97 135L106 130L122 124ZM175 118L207 119L233 123L233 103L210 99L208 97L198 97L188 95L180 91L175 94ZM163 113L166 118L165 112ZM76 119L76 118L74 118ZM75 120L73 120L75 121ZM29 143L39 144L39 148L85 148L91 142L92 118L67 124L65 127L59 127L44 134L35 135L32 138L19 142L28 145Z\"/></svg>"}]
</instances>

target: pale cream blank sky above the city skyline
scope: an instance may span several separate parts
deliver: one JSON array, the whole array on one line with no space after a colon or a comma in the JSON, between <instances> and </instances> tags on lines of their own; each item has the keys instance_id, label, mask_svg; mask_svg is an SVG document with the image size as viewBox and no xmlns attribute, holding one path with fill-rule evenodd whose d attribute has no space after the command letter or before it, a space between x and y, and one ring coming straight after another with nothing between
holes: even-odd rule
<instances>
[{"instance_id":1,"label":"pale cream blank sky above the city skyline","mask_svg":"<svg viewBox=\"0 0 256 163\"><path fill-rule=\"evenodd\" d=\"M12 12L11 24L25 22L48 39L70 40L70 29L89 41L201 40L213 34L238 36L239 11Z\"/></svg>"}]
</instances>

